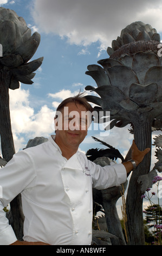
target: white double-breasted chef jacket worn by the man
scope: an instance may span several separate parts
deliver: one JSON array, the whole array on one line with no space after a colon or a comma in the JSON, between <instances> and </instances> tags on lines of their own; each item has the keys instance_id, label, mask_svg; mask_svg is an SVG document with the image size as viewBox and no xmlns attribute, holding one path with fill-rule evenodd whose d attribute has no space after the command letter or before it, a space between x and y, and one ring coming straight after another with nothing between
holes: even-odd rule
<instances>
[{"instance_id":1,"label":"white double-breasted chef jacket worn by the man","mask_svg":"<svg viewBox=\"0 0 162 256\"><path fill-rule=\"evenodd\" d=\"M2 209L18 193L22 195L25 241L89 245L92 187L105 189L125 181L123 164L101 167L80 151L67 160L52 136L48 142L20 151L0 169L0 245L17 240Z\"/></svg>"}]
</instances>

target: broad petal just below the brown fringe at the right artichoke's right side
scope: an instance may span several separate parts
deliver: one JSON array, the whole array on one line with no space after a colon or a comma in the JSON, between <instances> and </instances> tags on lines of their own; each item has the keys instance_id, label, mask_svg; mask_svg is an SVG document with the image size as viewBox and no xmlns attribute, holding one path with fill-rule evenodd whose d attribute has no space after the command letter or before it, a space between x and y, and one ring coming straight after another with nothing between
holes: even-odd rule
<instances>
[{"instance_id":1,"label":"broad petal just below the brown fringe at the right artichoke's right side","mask_svg":"<svg viewBox=\"0 0 162 256\"><path fill-rule=\"evenodd\" d=\"M148 52L137 52L134 54L132 69L137 74L140 84L144 84L147 70L150 69L152 66L158 65L160 65L160 60L157 54Z\"/></svg>"}]
</instances>

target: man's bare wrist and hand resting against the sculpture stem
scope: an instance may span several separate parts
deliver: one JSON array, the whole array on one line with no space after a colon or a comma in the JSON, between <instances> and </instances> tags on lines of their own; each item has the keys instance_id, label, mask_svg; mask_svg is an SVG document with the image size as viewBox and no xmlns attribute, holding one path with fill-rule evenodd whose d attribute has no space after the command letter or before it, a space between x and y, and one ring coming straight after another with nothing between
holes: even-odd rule
<instances>
[{"instance_id":1,"label":"man's bare wrist and hand resting against the sculpture stem","mask_svg":"<svg viewBox=\"0 0 162 256\"><path fill-rule=\"evenodd\" d=\"M136 166L138 166L138 164L140 162L142 162L142 160L144 159L144 156L150 151L150 148L145 149L144 151L140 151L137 148L137 145L134 142L133 139L133 143L132 143L132 160L135 161ZM126 168L126 172L127 174L131 172L131 170L133 169L133 164L130 161L124 162L122 163L125 168Z\"/></svg>"}]
</instances>

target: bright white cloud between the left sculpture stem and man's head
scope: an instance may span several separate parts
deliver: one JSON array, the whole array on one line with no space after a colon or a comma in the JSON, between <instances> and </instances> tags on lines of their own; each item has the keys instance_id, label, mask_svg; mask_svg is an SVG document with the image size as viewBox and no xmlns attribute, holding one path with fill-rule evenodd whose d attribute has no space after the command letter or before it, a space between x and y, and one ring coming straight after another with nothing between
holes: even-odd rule
<instances>
[{"instance_id":1,"label":"bright white cloud between the left sculpture stem and man's head","mask_svg":"<svg viewBox=\"0 0 162 256\"><path fill-rule=\"evenodd\" d=\"M25 147L31 138L49 137L53 133L53 109L43 105L35 113L30 106L28 90L10 90L10 115L16 152Z\"/></svg>"}]
</instances>

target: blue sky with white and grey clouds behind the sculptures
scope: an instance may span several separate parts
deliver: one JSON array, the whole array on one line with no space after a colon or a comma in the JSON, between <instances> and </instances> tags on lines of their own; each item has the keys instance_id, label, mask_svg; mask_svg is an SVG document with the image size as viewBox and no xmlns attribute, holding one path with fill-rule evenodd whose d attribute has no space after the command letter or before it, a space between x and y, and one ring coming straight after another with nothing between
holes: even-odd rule
<instances>
[{"instance_id":1,"label":"blue sky with white and grey clouds behind the sculptures","mask_svg":"<svg viewBox=\"0 0 162 256\"><path fill-rule=\"evenodd\" d=\"M10 90L10 113L16 152L29 139L54 134L56 107L66 97L96 87L85 74L89 64L108 58L107 47L123 28L135 21L149 23L162 36L161 0L0 0L0 6L22 16L32 33L41 34L33 59L44 57L33 84ZM32 60L33 60L32 59ZM89 131L80 150L105 148L92 136L106 141L125 156L132 144L129 126L113 128L107 136ZM103 131L102 131L103 132ZM160 132L154 132L153 137ZM153 148L152 165L157 160Z\"/></svg>"}]
</instances>

